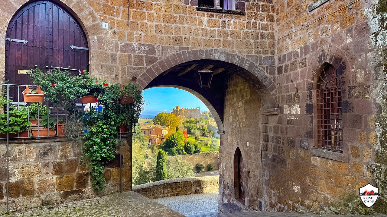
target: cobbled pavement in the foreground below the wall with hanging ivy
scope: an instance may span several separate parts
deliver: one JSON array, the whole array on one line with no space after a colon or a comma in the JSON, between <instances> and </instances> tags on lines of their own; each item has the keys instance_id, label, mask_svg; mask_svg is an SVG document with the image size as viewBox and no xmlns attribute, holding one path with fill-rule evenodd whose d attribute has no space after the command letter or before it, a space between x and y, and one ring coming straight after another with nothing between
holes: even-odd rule
<instances>
[{"instance_id":1,"label":"cobbled pavement in the foreground below the wall with hanging ivy","mask_svg":"<svg viewBox=\"0 0 387 217\"><path fill-rule=\"evenodd\" d=\"M0 215L2 216L2 215ZM184 217L136 192L116 193L52 207L12 213L7 217Z\"/></svg>"}]
</instances>

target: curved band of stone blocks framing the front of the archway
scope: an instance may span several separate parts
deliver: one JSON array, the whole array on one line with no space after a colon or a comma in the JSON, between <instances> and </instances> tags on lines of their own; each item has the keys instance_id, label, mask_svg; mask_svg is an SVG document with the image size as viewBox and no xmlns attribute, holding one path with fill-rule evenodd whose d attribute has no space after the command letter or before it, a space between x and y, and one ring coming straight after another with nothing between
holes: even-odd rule
<instances>
[{"instance_id":1,"label":"curved band of stone blocks framing the front of the archway","mask_svg":"<svg viewBox=\"0 0 387 217\"><path fill-rule=\"evenodd\" d=\"M229 74L237 74L246 80L259 94L263 109L262 114L278 114L276 96L276 83L273 81L275 68L264 70L253 61L238 54L230 54L216 49L183 50L172 54L148 67L138 78L137 83L146 88L151 81L162 73L183 63L197 60L222 61L226 64ZM272 70L272 72L270 71ZM268 73L270 71L271 73ZM271 74L271 75L269 75Z\"/></svg>"}]
</instances>

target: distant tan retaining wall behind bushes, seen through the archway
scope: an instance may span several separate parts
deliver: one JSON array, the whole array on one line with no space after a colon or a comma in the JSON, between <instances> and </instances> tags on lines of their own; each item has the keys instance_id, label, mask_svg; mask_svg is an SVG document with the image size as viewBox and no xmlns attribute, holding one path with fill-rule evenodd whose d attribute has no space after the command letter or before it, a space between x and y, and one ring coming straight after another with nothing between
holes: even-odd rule
<instances>
[{"instance_id":1,"label":"distant tan retaining wall behind bushes, seen through the archway","mask_svg":"<svg viewBox=\"0 0 387 217\"><path fill-rule=\"evenodd\" d=\"M212 164L215 169L219 168L219 153L217 152L207 152L207 153L197 153L197 154L184 154L176 156L168 156L168 158L181 158L185 161L188 161L192 164L192 171L195 173L195 166L197 163L201 163L205 166L204 170L207 170L207 165Z\"/></svg>"}]
</instances>

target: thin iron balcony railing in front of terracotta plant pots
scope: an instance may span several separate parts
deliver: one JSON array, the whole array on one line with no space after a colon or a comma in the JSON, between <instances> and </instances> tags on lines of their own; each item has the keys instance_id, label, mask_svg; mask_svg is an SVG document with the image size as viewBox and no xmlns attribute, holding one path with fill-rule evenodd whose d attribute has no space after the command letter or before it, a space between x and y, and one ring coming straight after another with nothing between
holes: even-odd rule
<instances>
[{"instance_id":1,"label":"thin iron balcony railing in front of terracotta plant pots","mask_svg":"<svg viewBox=\"0 0 387 217\"><path fill-rule=\"evenodd\" d=\"M36 87L29 85L29 87ZM87 115L87 109L101 111L103 106L97 103L78 103L76 101L72 107L58 107L48 100L39 103L26 103L23 101L22 92L25 85L0 84L2 94L0 96L2 106L0 109L0 129L7 127L5 133L0 132L2 139L27 139L37 137L64 137L65 125L72 123L82 124L80 134L87 132L85 121L91 122L92 117ZM75 106L74 106L75 105ZM43 110L42 110L43 108ZM71 111L71 112L70 112ZM25 117L27 115L27 117ZM70 123L70 124L72 124ZM30 125L30 126L28 126ZM12 133L10 129L20 127L23 131ZM123 128L119 133L127 133Z\"/></svg>"}]
</instances>

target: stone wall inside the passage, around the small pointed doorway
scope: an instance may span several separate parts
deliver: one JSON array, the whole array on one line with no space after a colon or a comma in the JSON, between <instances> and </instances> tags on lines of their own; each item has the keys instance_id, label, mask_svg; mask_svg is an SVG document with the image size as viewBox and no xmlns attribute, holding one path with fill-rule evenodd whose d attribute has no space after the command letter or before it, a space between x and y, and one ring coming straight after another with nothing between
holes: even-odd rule
<instances>
[{"instance_id":1,"label":"stone wall inside the passage, around the small pointed doorway","mask_svg":"<svg viewBox=\"0 0 387 217\"><path fill-rule=\"evenodd\" d=\"M262 198L260 98L239 76L228 79L225 101L224 135L219 149L219 203L235 202L234 153L241 150L245 174L246 209L258 210ZM264 130L262 130L264 131ZM247 146L248 142L248 146Z\"/></svg>"}]
</instances>

